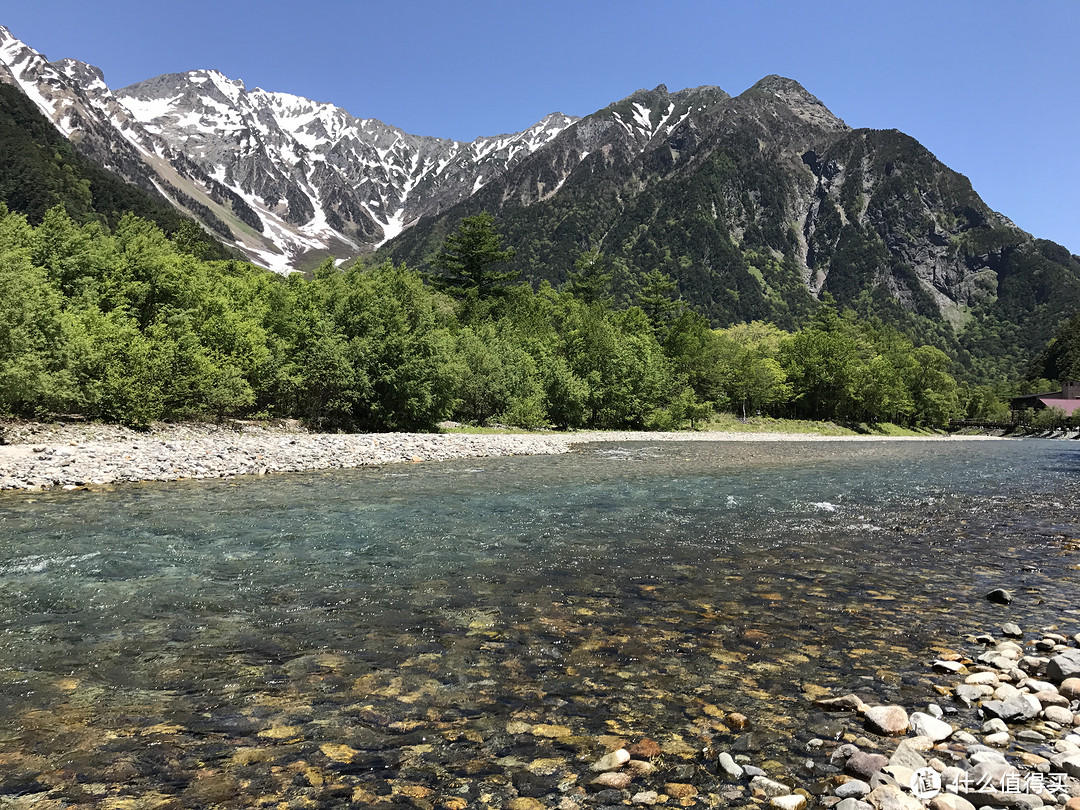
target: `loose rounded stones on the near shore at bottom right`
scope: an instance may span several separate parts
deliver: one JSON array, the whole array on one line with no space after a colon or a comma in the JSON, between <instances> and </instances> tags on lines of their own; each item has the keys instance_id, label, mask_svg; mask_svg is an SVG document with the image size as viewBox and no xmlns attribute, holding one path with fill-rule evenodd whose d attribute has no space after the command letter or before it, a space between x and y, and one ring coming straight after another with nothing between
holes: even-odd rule
<instances>
[{"instance_id":1,"label":"loose rounded stones on the near shore at bottom right","mask_svg":"<svg viewBox=\"0 0 1080 810\"><path fill-rule=\"evenodd\" d=\"M908 713L808 689L804 698L818 710L850 717L846 730L811 740L798 775L769 774L745 753L707 752L730 785L719 795L777 810L1080 808L1080 635L1005 623L999 635L966 642L969 653L946 652L932 664L954 679L936 687L943 705ZM735 728L747 724L732 717Z\"/></svg>"}]
</instances>

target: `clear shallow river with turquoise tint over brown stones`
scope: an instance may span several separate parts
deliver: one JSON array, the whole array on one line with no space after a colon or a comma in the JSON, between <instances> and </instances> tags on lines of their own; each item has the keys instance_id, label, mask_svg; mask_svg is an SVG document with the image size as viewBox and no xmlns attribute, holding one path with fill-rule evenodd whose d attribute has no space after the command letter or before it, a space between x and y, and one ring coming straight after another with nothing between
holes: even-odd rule
<instances>
[{"instance_id":1,"label":"clear shallow river with turquoise tint over brown stones","mask_svg":"<svg viewBox=\"0 0 1080 810\"><path fill-rule=\"evenodd\" d=\"M642 785L705 796L740 740L794 773L842 732L805 690L917 708L967 633L1080 631L1078 471L1065 442L608 444L5 495L0 796L554 806L643 737Z\"/></svg>"}]
</instances>

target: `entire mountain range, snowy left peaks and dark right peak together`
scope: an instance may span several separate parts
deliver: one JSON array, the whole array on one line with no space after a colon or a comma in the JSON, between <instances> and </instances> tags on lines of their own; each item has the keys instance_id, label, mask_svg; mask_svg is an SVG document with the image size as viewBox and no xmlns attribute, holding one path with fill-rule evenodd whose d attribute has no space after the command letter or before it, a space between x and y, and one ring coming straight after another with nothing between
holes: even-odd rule
<instances>
[{"instance_id":1,"label":"entire mountain range, snowy left peaks and dark right peak together","mask_svg":"<svg viewBox=\"0 0 1080 810\"><path fill-rule=\"evenodd\" d=\"M378 249L423 268L489 211L525 278L585 249L632 301L662 271L715 324L799 325L825 294L1015 376L1080 311L1080 258L991 211L914 138L855 130L797 82L642 90L582 119L465 144L214 70L112 92L0 28L0 81L87 157L285 272Z\"/></svg>"}]
</instances>

